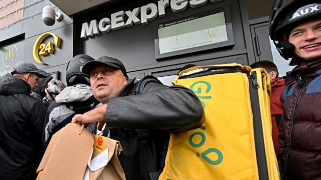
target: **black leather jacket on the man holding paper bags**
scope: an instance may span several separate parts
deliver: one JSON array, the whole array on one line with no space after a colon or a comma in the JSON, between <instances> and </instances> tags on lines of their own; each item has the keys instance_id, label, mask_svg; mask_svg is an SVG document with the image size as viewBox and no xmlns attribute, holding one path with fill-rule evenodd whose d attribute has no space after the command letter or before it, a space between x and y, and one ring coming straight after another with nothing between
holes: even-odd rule
<instances>
[{"instance_id":1,"label":"black leather jacket on the man holding paper bags","mask_svg":"<svg viewBox=\"0 0 321 180\"><path fill-rule=\"evenodd\" d=\"M182 86L146 83L142 92L131 95L136 81L129 80L116 97L110 99L106 110L106 126L112 139L120 142L119 155L126 180L142 180L140 174L139 140L134 129L149 129L153 157L157 170L167 150L170 133L197 128L204 121L204 110L198 97ZM105 129L106 130L106 129Z\"/></svg>"}]
</instances>

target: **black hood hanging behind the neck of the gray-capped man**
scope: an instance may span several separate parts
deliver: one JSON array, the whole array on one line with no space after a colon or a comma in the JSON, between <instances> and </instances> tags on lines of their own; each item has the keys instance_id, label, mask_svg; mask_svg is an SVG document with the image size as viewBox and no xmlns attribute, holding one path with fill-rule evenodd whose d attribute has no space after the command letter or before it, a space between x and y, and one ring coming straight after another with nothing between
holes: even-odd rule
<instances>
[{"instance_id":1,"label":"black hood hanging behind the neck of the gray-capped man","mask_svg":"<svg viewBox=\"0 0 321 180\"><path fill-rule=\"evenodd\" d=\"M19 93L30 93L30 85L11 74L6 74L0 77L0 94L19 94Z\"/></svg>"}]
</instances>

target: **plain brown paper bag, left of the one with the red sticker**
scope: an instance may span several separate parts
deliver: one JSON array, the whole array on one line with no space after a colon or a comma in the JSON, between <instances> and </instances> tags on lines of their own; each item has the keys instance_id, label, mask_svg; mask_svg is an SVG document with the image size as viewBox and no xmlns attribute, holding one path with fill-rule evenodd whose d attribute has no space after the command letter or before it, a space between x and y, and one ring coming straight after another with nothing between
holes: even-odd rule
<instances>
[{"instance_id":1,"label":"plain brown paper bag, left of the one with the red sticker","mask_svg":"<svg viewBox=\"0 0 321 180\"><path fill-rule=\"evenodd\" d=\"M94 139L87 129L69 123L55 133L37 169L37 180L82 180Z\"/></svg>"}]
</instances>

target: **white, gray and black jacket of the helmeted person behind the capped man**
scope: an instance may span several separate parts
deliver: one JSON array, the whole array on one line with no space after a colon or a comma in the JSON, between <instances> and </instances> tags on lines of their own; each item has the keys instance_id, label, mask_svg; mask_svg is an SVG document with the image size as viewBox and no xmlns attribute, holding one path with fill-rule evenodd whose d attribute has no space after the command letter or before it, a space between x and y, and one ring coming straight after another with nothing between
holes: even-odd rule
<instances>
[{"instance_id":1,"label":"white, gray and black jacket of the helmeted person behind the capped man","mask_svg":"<svg viewBox=\"0 0 321 180\"><path fill-rule=\"evenodd\" d=\"M43 147L48 146L52 135L71 122L75 114L86 113L99 105L101 103L95 99L88 85L78 84L63 89L48 107L43 131ZM88 124L87 130L95 134L96 125Z\"/></svg>"}]
</instances>

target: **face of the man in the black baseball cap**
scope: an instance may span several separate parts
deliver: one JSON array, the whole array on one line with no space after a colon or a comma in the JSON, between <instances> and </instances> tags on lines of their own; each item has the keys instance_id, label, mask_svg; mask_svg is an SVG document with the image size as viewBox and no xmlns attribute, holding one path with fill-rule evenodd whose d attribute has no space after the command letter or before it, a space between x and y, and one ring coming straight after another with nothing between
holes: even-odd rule
<instances>
[{"instance_id":1,"label":"face of the man in the black baseball cap","mask_svg":"<svg viewBox=\"0 0 321 180\"><path fill-rule=\"evenodd\" d=\"M103 104L113 98L126 83L126 77L120 69L99 65L90 71L92 93Z\"/></svg>"}]
</instances>

